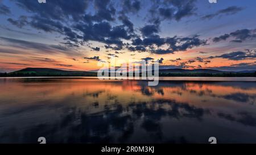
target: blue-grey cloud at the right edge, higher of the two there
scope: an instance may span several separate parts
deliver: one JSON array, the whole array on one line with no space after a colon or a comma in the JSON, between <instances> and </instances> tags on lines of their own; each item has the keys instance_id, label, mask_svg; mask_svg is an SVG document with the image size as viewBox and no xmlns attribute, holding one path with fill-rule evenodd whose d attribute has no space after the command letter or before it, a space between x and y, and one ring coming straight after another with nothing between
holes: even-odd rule
<instances>
[{"instance_id":1,"label":"blue-grey cloud at the right edge, higher of the two there","mask_svg":"<svg viewBox=\"0 0 256 155\"><path fill-rule=\"evenodd\" d=\"M237 30L234 32L231 32L229 34L221 35L219 37L214 37L213 42L218 42L222 40L226 40L229 37L233 37L235 40L232 40L233 42L241 43L242 41L245 41L247 39L254 39L256 38L256 29L249 30L249 29L242 29Z\"/></svg>"}]
</instances>

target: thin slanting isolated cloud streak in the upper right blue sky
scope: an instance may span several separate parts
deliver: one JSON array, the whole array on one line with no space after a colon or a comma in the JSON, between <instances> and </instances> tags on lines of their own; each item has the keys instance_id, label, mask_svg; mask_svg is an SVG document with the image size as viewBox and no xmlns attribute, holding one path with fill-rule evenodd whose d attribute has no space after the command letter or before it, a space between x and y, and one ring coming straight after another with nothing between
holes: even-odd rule
<instances>
[{"instance_id":1,"label":"thin slanting isolated cloud streak in the upper right blue sky","mask_svg":"<svg viewBox=\"0 0 256 155\"><path fill-rule=\"evenodd\" d=\"M230 6L230 7L227 7L226 9L218 10L214 14L205 15L205 16L201 17L201 19L203 19L203 20L204 19L212 19L216 16L221 16L221 15L233 15L233 14L236 14L237 12L242 11L242 10L243 10L242 7Z\"/></svg>"}]
</instances>

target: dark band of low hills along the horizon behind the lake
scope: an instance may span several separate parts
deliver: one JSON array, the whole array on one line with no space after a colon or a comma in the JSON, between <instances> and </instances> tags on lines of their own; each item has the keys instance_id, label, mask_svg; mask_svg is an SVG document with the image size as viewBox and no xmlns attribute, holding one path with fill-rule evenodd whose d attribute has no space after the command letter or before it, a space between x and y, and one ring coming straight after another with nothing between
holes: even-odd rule
<instances>
[{"instance_id":1,"label":"dark band of low hills along the horizon behind the lake","mask_svg":"<svg viewBox=\"0 0 256 155\"><path fill-rule=\"evenodd\" d=\"M96 77L97 72L69 71L51 68L25 68L0 77ZM228 72L214 69L160 69L161 77L256 77L256 71Z\"/></svg>"}]
</instances>

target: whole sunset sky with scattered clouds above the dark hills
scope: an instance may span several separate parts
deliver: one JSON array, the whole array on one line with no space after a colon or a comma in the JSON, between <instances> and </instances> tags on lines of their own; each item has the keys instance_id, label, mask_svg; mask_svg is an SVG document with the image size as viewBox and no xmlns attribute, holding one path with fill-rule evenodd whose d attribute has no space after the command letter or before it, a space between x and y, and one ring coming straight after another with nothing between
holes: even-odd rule
<instances>
[{"instance_id":1,"label":"whole sunset sky with scattered clouds above the dark hills","mask_svg":"<svg viewBox=\"0 0 256 155\"><path fill-rule=\"evenodd\" d=\"M160 69L256 70L254 0L0 0L0 72L97 70L159 60Z\"/></svg>"}]
</instances>

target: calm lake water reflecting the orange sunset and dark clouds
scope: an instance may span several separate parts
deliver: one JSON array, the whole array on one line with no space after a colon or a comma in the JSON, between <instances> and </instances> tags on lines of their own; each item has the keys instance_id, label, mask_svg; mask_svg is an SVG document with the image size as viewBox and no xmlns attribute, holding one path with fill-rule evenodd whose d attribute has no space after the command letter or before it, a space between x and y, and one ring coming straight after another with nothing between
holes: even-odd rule
<instances>
[{"instance_id":1,"label":"calm lake water reflecting the orange sunset and dark clouds","mask_svg":"<svg viewBox=\"0 0 256 155\"><path fill-rule=\"evenodd\" d=\"M256 143L256 82L0 79L0 143Z\"/></svg>"}]
</instances>

